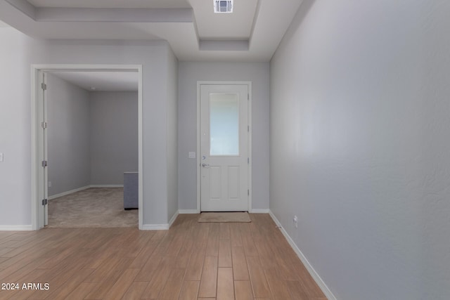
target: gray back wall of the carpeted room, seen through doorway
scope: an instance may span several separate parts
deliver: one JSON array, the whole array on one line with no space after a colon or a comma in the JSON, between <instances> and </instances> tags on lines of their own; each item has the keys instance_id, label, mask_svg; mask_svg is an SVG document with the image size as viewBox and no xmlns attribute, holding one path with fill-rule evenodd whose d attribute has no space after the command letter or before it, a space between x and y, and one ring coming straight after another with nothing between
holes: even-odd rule
<instances>
[{"instance_id":1,"label":"gray back wall of the carpeted room, seen through doorway","mask_svg":"<svg viewBox=\"0 0 450 300\"><path fill-rule=\"evenodd\" d=\"M138 93L90 93L91 185L122 185L138 171Z\"/></svg>"}]
</instances>

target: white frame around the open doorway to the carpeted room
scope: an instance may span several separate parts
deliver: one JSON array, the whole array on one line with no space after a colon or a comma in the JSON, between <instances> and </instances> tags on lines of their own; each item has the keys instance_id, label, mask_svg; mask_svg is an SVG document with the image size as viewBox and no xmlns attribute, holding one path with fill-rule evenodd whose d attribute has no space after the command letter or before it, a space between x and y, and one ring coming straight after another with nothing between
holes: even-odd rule
<instances>
[{"instance_id":1,"label":"white frame around the open doorway to the carpeted room","mask_svg":"<svg viewBox=\"0 0 450 300\"><path fill-rule=\"evenodd\" d=\"M40 123L38 118L38 93L41 93L41 85L38 82L38 72L49 71L96 71L96 72L138 72L138 172L139 172L139 229L143 222L143 140L142 140L142 65L31 65L31 223L32 230L43 227L43 216L39 214L38 182L39 176L43 176L39 168L39 139L37 130Z\"/></svg>"}]
</instances>

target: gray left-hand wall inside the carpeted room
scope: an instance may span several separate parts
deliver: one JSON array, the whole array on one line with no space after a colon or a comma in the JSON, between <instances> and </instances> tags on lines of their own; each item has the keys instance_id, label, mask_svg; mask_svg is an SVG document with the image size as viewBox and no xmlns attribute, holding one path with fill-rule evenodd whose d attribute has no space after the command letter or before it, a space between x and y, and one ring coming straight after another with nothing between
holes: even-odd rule
<instances>
[{"instance_id":1,"label":"gray left-hand wall inside the carpeted room","mask_svg":"<svg viewBox=\"0 0 450 300\"><path fill-rule=\"evenodd\" d=\"M46 73L49 196L91 182L89 92Z\"/></svg>"}]
</instances>

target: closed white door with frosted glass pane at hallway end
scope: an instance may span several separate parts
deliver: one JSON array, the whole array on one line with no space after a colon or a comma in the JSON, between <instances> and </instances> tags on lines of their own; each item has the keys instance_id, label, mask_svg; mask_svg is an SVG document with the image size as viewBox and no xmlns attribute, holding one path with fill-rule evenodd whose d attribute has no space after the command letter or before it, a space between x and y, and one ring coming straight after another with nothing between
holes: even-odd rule
<instances>
[{"instance_id":1,"label":"closed white door with frosted glass pane at hallway end","mask_svg":"<svg viewBox=\"0 0 450 300\"><path fill-rule=\"evenodd\" d=\"M200 85L200 209L248 211L248 85Z\"/></svg>"}]
</instances>

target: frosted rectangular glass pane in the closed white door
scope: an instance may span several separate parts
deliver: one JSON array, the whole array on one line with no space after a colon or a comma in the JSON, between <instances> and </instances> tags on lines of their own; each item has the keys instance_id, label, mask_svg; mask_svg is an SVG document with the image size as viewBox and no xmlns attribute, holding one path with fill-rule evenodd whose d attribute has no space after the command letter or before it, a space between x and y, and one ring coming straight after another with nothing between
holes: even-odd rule
<instances>
[{"instance_id":1,"label":"frosted rectangular glass pane in the closed white door","mask_svg":"<svg viewBox=\"0 0 450 300\"><path fill-rule=\"evenodd\" d=\"M210 93L210 155L239 155L237 93Z\"/></svg>"}]
</instances>

